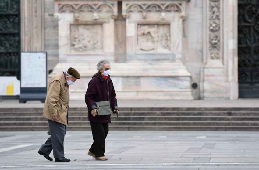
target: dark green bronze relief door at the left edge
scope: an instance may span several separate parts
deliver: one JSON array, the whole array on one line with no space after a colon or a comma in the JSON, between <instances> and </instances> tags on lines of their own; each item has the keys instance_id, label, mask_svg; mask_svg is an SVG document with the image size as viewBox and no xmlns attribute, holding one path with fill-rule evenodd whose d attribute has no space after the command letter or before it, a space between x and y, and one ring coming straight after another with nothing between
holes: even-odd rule
<instances>
[{"instance_id":1,"label":"dark green bronze relief door at the left edge","mask_svg":"<svg viewBox=\"0 0 259 170\"><path fill-rule=\"evenodd\" d=\"M20 77L20 0L0 0L0 76Z\"/></svg>"}]
</instances>

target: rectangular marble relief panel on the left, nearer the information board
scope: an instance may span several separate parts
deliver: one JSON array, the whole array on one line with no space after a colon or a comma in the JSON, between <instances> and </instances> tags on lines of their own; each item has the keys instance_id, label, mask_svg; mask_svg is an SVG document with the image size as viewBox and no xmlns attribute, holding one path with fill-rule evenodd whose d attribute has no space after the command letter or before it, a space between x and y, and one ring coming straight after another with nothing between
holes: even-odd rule
<instances>
[{"instance_id":1,"label":"rectangular marble relief panel on the left, nearer the information board","mask_svg":"<svg viewBox=\"0 0 259 170\"><path fill-rule=\"evenodd\" d=\"M70 25L70 52L102 53L102 25Z\"/></svg>"}]
</instances>

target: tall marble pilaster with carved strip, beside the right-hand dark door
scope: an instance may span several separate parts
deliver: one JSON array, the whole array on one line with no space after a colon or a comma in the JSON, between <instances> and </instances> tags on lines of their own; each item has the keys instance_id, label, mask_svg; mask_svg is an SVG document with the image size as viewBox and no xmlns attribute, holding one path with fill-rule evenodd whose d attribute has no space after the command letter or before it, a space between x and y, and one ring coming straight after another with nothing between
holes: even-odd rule
<instances>
[{"instance_id":1,"label":"tall marble pilaster with carved strip, beside the right-hand dark door","mask_svg":"<svg viewBox=\"0 0 259 170\"><path fill-rule=\"evenodd\" d=\"M204 0L201 99L237 99L237 4Z\"/></svg>"}]
</instances>

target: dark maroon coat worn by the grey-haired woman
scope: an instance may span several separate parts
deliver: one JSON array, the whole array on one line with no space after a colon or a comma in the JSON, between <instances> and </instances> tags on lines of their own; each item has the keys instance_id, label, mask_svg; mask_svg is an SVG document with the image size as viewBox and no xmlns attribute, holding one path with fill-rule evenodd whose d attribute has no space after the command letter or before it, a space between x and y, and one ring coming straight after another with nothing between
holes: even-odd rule
<instances>
[{"instance_id":1,"label":"dark maroon coat worn by the grey-haired woman","mask_svg":"<svg viewBox=\"0 0 259 170\"><path fill-rule=\"evenodd\" d=\"M88 88L84 97L85 103L88 107L88 121L90 122L111 123L111 115L92 116L91 114L91 111L97 108L94 101L108 101L107 81L109 84L110 106L112 108L112 112L115 113L114 109L118 110L116 93L113 87L112 79L110 79L110 75L108 75L105 80L100 73L96 73L92 77L92 80L88 83Z\"/></svg>"}]
</instances>

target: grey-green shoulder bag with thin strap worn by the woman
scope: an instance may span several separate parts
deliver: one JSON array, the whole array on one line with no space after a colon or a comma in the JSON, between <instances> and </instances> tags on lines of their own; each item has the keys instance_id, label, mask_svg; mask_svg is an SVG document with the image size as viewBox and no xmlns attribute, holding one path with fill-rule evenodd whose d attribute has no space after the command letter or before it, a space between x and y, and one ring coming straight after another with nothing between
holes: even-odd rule
<instances>
[{"instance_id":1,"label":"grey-green shoulder bag with thin strap worn by the woman","mask_svg":"<svg viewBox=\"0 0 259 170\"><path fill-rule=\"evenodd\" d=\"M107 80L107 86L108 86L108 100L109 101L98 101L94 102L95 106L98 109L98 115L103 116L103 115L111 115L112 114L112 109L110 107L110 95L109 95L109 85L108 85L108 80Z\"/></svg>"}]
</instances>

